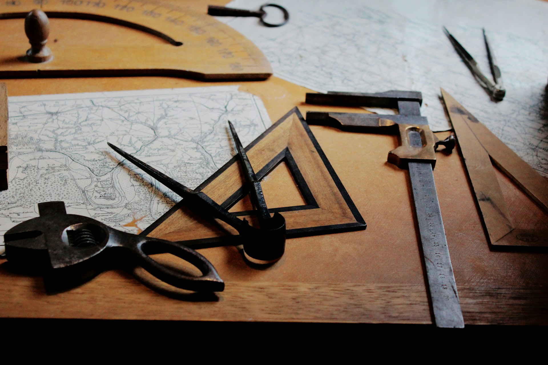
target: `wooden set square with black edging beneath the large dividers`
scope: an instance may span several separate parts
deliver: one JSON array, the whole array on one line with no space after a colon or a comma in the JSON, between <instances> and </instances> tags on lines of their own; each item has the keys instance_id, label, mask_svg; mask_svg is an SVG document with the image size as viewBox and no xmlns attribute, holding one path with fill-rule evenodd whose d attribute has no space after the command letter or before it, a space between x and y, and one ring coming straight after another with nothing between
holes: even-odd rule
<instances>
[{"instance_id":1,"label":"wooden set square with black edging beneath the large dividers","mask_svg":"<svg viewBox=\"0 0 548 365\"><path fill-rule=\"evenodd\" d=\"M301 237L366 229L366 223L346 192L322 148L298 108L293 108L246 147L259 179L285 162L306 205L271 208L287 223L287 237ZM206 193L230 209L247 195L243 172L232 158L196 191ZM234 212L256 225L253 211ZM190 212L182 202L142 233L170 241L186 241L194 248L238 244L236 230L229 225L206 221Z\"/></svg>"}]
</instances>

